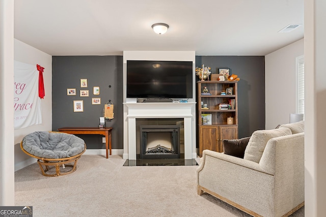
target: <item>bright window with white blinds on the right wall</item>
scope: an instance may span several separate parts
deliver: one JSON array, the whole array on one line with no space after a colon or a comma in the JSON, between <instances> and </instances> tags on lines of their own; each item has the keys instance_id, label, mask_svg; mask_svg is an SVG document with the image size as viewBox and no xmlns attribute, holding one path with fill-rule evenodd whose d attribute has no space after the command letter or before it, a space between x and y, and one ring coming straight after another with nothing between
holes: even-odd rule
<instances>
[{"instance_id":1,"label":"bright window with white blinds on the right wall","mask_svg":"<svg viewBox=\"0 0 326 217\"><path fill-rule=\"evenodd\" d=\"M305 114L305 57L296 57L296 113Z\"/></svg>"}]
</instances>

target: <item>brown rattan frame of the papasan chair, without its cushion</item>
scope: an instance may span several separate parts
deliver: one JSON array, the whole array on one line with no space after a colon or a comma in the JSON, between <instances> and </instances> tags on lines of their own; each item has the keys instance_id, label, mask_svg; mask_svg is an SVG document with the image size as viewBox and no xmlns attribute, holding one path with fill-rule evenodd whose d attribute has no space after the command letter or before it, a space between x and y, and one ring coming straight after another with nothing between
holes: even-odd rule
<instances>
[{"instance_id":1,"label":"brown rattan frame of the papasan chair, without its cushion","mask_svg":"<svg viewBox=\"0 0 326 217\"><path fill-rule=\"evenodd\" d=\"M60 133L60 132L50 132L50 133ZM86 151L86 144L84 143L84 145L85 145L84 151L76 154L75 156L72 156L69 158L53 159L53 158L40 158L38 156L35 156L35 155L27 152L22 146L22 141L20 142L20 148L25 154L38 159L37 163L39 164L39 166L41 168L42 174L45 176L51 176L51 177L67 175L67 174L70 174L70 173L76 171L77 161L79 160L80 156L82 156L82 154ZM73 162L73 164L69 164L72 162ZM56 173L53 173L53 174L46 173L50 169L50 166L54 166L56 168ZM62 167L62 168L71 167L71 170L62 172L62 171L60 171L60 167Z\"/></svg>"}]
</instances>

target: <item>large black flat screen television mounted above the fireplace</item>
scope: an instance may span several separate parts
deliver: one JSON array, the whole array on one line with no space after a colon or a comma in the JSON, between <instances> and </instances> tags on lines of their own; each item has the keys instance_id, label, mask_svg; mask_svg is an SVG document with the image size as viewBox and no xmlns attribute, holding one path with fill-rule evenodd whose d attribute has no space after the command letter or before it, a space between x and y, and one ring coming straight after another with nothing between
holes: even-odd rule
<instances>
[{"instance_id":1,"label":"large black flat screen television mounted above the fireplace","mask_svg":"<svg viewBox=\"0 0 326 217\"><path fill-rule=\"evenodd\" d=\"M193 98L192 61L127 60L127 98Z\"/></svg>"}]
</instances>

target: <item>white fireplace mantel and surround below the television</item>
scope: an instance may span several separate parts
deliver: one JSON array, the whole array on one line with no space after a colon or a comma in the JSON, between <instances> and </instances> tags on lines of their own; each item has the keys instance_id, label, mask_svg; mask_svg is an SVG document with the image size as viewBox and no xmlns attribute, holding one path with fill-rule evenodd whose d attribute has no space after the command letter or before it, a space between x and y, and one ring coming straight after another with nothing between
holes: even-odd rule
<instances>
[{"instance_id":1,"label":"white fireplace mantel and surround below the television","mask_svg":"<svg viewBox=\"0 0 326 217\"><path fill-rule=\"evenodd\" d=\"M136 160L136 119L137 118L183 118L184 159L195 159L196 136L195 102L188 103L124 103L128 123L128 142L124 142L123 158ZM126 137L125 137L126 138ZM194 140L194 141L193 141ZM128 152L127 152L128 151Z\"/></svg>"}]
</instances>

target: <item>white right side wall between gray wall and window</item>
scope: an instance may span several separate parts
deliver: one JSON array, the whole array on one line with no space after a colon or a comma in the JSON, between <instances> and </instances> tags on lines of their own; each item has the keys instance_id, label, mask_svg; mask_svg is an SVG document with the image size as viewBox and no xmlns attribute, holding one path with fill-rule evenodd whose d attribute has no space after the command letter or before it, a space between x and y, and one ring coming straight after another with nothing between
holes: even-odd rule
<instances>
[{"instance_id":1,"label":"white right side wall between gray wall and window","mask_svg":"<svg viewBox=\"0 0 326 217\"><path fill-rule=\"evenodd\" d=\"M295 113L295 58L301 55L304 55L304 39L265 56L267 130L289 123L290 113Z\"/></svg>"}]
</instances>

